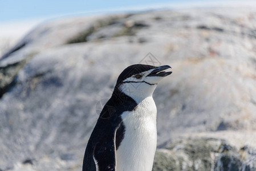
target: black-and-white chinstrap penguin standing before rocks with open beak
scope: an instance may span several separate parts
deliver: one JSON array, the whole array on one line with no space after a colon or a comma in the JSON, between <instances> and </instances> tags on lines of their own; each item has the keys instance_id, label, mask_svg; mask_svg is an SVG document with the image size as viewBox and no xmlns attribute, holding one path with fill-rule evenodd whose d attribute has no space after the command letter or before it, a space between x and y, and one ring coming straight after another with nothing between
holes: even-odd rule
<instances>
[{"instance_id":1,"label":"black-and-white chinstrap penguin standing before rocks with open beak","mask_svg":"<svg viewBox=\"0 0 256 171\"><path fill-rule=\"evenodd\" d=\"M151 171L157 145L152 94L170 66L133 64L117 78L88 140L83 171Z\"/></svg>"}]
</instances>

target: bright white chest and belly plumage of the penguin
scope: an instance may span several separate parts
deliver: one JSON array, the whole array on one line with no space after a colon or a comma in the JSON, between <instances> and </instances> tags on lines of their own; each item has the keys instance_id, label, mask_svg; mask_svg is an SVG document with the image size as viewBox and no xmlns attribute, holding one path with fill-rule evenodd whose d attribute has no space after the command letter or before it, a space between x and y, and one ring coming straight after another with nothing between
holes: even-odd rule
<instances>
[{"instance_id":1,"label":"bright white chest and belly plumage of the penguin","mask_svg":"<svg viewBox=\"0 0 256 171\"><path fill-rule=\"evenodd\" d=\"M134 111L121 115L125 132L116 151L116 170L152 170L157 143L156 112L151 97L141 101Z\"/></svg>"}]
</instances>

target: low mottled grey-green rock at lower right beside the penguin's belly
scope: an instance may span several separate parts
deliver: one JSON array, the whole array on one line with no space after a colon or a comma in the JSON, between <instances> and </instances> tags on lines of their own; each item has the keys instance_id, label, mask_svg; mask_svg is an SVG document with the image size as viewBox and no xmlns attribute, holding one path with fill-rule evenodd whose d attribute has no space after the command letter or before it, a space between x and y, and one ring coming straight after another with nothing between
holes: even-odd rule
<instances>
[{"instance_id":1,"label":"low mottled grey-green rock at lower right beside the penguin's belly","mask_svg":"<svg viewBox=\"0 0 256 171\"><path fill-rule=\"evenodd\" d=\"M182 138L157 149L153 170L255 170L256 150L243 150L220 139Z\"/></svg>"}]
</instances>

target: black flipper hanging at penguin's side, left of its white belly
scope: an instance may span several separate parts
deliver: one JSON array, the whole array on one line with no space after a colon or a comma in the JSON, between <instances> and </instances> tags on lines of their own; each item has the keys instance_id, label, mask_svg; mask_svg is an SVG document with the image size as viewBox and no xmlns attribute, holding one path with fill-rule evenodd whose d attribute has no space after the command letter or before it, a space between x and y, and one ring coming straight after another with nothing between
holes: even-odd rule
<instances>
[{"instance_id":1,"label":"black flipper hanging at penguin's side, left of its white belly","mask_svg":"<svg viewBox=\"0 0 256 171\"><path fill-rule=\"evenodd\" d=\"M115 171L116 170L116 145L115 132L105 135L97 142L94 148L94 160L96 170Z\"/></svg>"}]
</instances>

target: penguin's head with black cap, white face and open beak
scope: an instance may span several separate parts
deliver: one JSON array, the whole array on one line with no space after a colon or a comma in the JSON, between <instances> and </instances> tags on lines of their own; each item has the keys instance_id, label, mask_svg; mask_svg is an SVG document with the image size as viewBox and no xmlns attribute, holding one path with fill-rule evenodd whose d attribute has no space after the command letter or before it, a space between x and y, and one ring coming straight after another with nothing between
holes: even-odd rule
<instances>
[{"instance_id":1,"label":"penguin's head with black cap, white face and open beak","mask_svg":"<svg viewBox=\"0 0 256 171\"><path fill-rule=\"evenodd\" d=\"M125 68L117 79L116 88L132 97L134 100L143 100L152 96L157 84L172 71L165 72L170 66L150 66L133 64Z\"/></svg>"}]
</instances>

